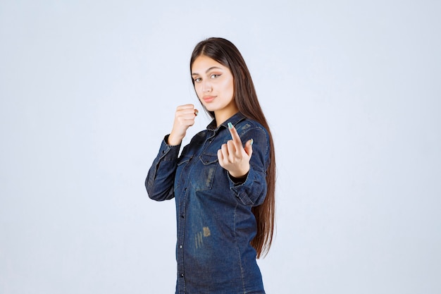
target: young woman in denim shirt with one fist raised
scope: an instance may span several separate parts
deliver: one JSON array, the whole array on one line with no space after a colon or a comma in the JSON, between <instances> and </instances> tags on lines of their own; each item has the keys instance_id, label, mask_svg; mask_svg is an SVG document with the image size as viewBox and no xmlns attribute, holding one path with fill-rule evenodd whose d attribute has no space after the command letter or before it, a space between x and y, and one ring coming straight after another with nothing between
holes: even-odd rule
<instances>
[{"instance_id":1,"label":"young woman in denim shirt with one fist raised","mask_svg":"<svg viewBox=\"0 0 441 294\"><path fill-rule=\"evenodd\" d=\"M197 97L213 118L178 157L198 114L178 106L145 185L176 202L176 293L265 293L256 258L273 240L275 157L247 65L222 38L199 42L190 60Z\"/></svg>"}]
</instances>

